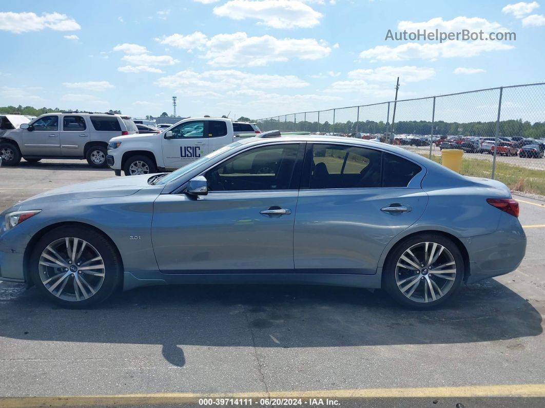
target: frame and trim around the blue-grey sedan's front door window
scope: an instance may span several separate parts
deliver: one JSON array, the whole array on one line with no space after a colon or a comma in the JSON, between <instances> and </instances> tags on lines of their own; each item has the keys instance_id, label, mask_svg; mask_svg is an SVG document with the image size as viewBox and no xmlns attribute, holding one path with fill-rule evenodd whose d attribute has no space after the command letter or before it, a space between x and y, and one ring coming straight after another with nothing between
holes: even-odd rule
<instances>
[{"instance_id":1,"label":"frame and trim around the blue-grey sedan's front door window","mask_svg":"<svg viewBox=\"0 0 545 408\"><path fill-rule=\"evenodd\" d=\"M277 146L282 144L298 144L297 148L297 156L295 157L295 166L293 166L292 170L292 176L289 181L289 188L284 188L282 190L228 190L228 191L210 191L208 194L228 194L228 193L236 193L236 192L244 192L244 193L257 193L257 192L271 192L271 191L299 191L300 190L300 183L301 183L301 177L302 177L302 169L303 169L303 158L305 155L305 149L307 142L301 142L301 141L281 141L280 143L267 143L267 144L259 144L259 145L253 145L246 149L239 150L235 154L225 157L225 159L220 160L217 163L214 163L213 166L208 167L207 169L203 170L202 172L198 173L199 176L204 176L209 170L220 166L223 162L226 162L227 160L232 159L234 156L238 156L239 154L246 153L247 151L259 149L263 147L271 147L271 146ZM196 175L196 176L197 176ZM194 176L194 177L196 177ZM171 194L180 194L183 193L186 187L188 181L184 182L180 187L175 189Z\"/></svg>"}]
</instances>

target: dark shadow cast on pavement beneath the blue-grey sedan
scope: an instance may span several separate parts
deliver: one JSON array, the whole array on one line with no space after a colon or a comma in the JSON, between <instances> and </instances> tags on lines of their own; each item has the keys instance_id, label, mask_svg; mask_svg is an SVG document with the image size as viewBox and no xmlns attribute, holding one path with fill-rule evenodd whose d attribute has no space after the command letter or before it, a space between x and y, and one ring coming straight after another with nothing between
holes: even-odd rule
<instances>
[{"instance_id":1,"label":"dark shadow cast on pavement beneath the blue-grey sedan","mask_svg":"<svg viewBox=\"0 0 545 408\"><path fill-rule=\"evenodd\" d=\"M35 288L0 285L0 336L45 342L161 344L174 366L185 345L306 348L489 342L542 333L541 314L492 279L447 306L398 307L383 291L281 285L139 288L88 310L52 305Z\"/></svg>"}]
</instances>

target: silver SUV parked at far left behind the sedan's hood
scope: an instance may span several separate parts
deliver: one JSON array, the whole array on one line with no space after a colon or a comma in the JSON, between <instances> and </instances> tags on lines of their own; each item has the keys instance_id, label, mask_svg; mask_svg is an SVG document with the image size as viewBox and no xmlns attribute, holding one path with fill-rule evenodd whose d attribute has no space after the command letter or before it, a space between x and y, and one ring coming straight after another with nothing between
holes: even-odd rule
<instances>
[{"instance_id":1,"label":"silver SUV parked at far left behind the sedan's hood","mask_svg":"<svg viewBox=\"0 0 545 408\"><path fill-rule=\"evenodd\" d=\"M129 116L113 113L46 113L23 123L0 137L4 166L15 166L21 157L41 159L87 159L92 167L106 167L108 142L115 136L138 133Z\"/></svg>"}]
</instances>

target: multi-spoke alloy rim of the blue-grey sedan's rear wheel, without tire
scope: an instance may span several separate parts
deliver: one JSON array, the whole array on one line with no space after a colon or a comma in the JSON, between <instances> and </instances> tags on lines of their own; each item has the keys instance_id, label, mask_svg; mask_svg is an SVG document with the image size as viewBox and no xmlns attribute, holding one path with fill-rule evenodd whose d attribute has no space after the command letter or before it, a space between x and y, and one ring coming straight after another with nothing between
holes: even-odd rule
<instances>
[{"instance_id":1,"label":"multi-spoke alloy rim of the blue-grey sedan's rear wheel, without tire","mask_svg":"<svg viewBox=\"0 0 545 408\"><path fill-rule=\"evenodd\" d=\"M418 303L439 300L452 289L456 261L437 242L420 242L406 249L396 264L397 288L407 299Z\"/></svg>"}]
</instances>

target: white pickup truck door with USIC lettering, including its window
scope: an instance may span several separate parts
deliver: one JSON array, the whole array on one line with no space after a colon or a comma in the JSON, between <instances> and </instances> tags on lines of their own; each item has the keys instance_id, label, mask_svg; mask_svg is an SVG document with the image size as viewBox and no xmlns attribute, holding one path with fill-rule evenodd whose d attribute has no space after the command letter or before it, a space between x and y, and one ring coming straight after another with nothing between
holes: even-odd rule
<instances>
[{"instance_id":1,"label":"white pickup truck door with USIC lettering, including its window","mask_svg":"<svg viewBox=\"0 0 545 408\"><path fill-rule=\"evenodd\" d=\"M180 168L208 154L204 121L195 120L172 128L172 139L162 139L165 167Z\"/></svg>"}]
</instances>

